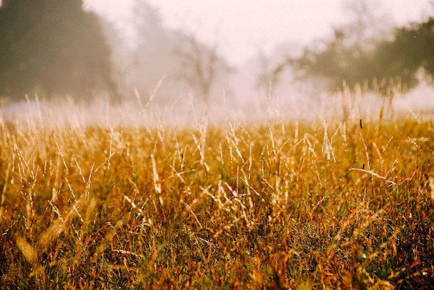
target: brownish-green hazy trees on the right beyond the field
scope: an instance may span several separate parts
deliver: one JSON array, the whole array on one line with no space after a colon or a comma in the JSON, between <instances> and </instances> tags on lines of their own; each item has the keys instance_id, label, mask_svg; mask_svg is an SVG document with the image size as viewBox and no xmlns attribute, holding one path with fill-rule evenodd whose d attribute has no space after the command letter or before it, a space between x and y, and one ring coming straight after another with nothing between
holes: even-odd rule
<instances>
[{"instance_id":1,"label":"brownish-green hazy trees on the right beyond the field","mask_svg":"<svg viewBox=\"0 0 434 290\"><path fill-rule=\"evenodd\" d=\"M370 13L366 6L361 10L365 14L350 25L333 28L331 39L307 46L301 57L288 57L275 74L290 66L299 78L324 78L329 89L340 87L342 81L350 86L369 83L371 88L380 82L387 83L385 86L399 82L410 89L417 85L421 68L434 76L434 17L394 28L388 34L372 27L381 19L366 17Z\"/></svg>"}]
</instances>

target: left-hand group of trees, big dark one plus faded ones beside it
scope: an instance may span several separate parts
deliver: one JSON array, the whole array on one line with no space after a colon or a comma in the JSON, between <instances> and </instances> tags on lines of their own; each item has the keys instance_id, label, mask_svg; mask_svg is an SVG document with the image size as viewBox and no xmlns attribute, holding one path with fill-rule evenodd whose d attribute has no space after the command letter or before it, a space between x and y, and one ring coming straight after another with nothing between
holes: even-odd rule
<instances>
[{"instance_id":1,"label":"left-hand group of trees, big dark one plus faded ones beside it","mask_svg":"<svg viewBox=\"0 0 434 290\"><path fill-rule=\"evenodd\" d=\"M186 84L207 102L219 71L229 68L217 46L165 28L146 0L134 5L137 37L129 48L123 32L85 11L83 0L3 0L0 97L89 99L105 92L117 101L134 87L146 98L166 75L166 87L176 87L166 94Z\"/></svg>"}]
</instances>

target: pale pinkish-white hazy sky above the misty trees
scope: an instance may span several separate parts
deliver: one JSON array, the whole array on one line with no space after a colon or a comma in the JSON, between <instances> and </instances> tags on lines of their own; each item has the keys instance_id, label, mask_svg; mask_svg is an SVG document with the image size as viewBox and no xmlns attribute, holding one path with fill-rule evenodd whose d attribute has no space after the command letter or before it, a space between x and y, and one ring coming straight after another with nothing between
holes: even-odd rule
<instances>
[{"instance_id":1,"label":"pale pinkish-white hazy sky above the misty trees","mask_svg":"<svg viewBox=\"0 0 434 290\"><path fill-rule=\"evenodd\" d=\"M200 40L216 43L220 53L241 63L285 41L306 44L327 36L332 25L348 21L346 0L149 0L171 28L182 28ZM125 21L133 0L85 0L86 7ZM398 24L433 12L429 0L371 0Z\"/></svg>"}]
</instances>

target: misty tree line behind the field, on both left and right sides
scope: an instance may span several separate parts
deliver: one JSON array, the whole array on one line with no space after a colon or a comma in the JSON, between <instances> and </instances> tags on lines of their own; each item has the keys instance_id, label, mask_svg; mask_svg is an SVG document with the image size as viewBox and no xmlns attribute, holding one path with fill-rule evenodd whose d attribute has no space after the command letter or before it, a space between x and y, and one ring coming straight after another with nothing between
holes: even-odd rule
<instances>
[{"instance_id":1,"label":"misty tree line behind the field, on both left and right sides","mask_svg":"<svg viewBox=\"0 0 434 290\"><path fill-rule=\"evenodd\" d=\"M342 80L350 85L395 80L413 87L421 67L434 76L434 17L381 33L372 26L381 21L372 17L367 2L351 3L351 24L333 28L330 39L306 47L301 57L288 57L274 75L290 66L300 78L327 79L332 89ZM146 0L136 0L136 6L138 35L136 46L128 50L112 25L83 10L83 0L3 0L0 97L17 100L37 93L89 98L105 91L119 100L122 87L146 94L169 74L167 87L182 83L209 102L219 75L232 71L218 47L165 28Z\"/></svg>"}]
</instances>

